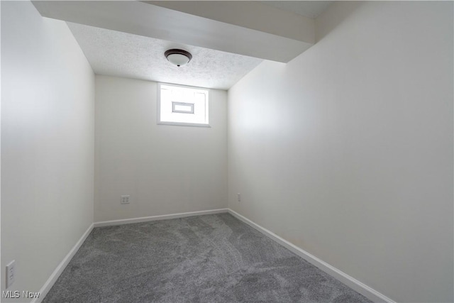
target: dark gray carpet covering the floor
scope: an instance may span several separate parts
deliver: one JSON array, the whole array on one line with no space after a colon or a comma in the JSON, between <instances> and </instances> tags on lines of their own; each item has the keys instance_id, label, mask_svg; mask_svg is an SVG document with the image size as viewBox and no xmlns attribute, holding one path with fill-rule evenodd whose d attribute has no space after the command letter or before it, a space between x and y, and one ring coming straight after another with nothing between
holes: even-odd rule
<instances>
[{"instance_id":1,"label":"dark gray carpet covering the floor","mask_svg":"<svg viewBox=\"0 0 454 303\"><path fill-rule=\"evenodd\" d=\"M43 302L370 302L231 214L94 228Z\"/></svg>"}]
</instances>

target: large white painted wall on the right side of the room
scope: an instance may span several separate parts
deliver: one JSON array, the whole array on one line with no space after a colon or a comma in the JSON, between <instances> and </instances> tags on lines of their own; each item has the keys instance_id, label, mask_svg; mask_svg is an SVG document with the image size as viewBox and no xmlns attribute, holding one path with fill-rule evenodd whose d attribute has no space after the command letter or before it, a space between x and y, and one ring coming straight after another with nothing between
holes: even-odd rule
<instances>
[{"instance_id":1,"label":"large white painted wall on the right side of the room","mask_svg":"<svg viewBox=\"0 0 454 303\"><path fill-rule=\"evenodd\" d=\"M228 91L228 206L397 302L453 302L453 2L316 26Z\"/></svg>"}]
</instances>

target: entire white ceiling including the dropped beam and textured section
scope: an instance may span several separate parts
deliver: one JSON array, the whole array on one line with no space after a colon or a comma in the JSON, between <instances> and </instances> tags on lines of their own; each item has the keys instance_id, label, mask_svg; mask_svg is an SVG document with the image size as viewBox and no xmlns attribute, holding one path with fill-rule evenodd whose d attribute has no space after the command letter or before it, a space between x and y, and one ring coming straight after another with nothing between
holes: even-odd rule
<instances>
[{"instance_id":1,"label":"entire white ceiling including the dropped beam and textured section","mask_svg":"<svg viewBox=\"0 0 454 303\"><path fill-rule=\"evenodd\" d=\"M262 59L288 62L310 48L313 18L332 1L149 2L33 4L42 16L67 21L97 75L229 89ZM170 48L189 51L191 62L171 65Z\"/></svg>"}]
</instances>

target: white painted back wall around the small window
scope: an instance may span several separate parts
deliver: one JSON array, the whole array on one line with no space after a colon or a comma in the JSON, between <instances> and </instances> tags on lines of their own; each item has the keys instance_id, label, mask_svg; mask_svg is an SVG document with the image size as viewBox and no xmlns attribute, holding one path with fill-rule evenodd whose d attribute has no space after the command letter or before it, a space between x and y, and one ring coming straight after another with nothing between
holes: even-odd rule
<instances>
[{"instance_id":1,"label":"white painted back wall around the small window","mask_svg":"<svg viewBox=\"0 0 454 303\"><path fill-rule=\"evenodd\" d=\"M96 222L226 207L227 93L209 98L211 128L157 125L156 82L96 76Z\"/></svg>"}]
</instances>

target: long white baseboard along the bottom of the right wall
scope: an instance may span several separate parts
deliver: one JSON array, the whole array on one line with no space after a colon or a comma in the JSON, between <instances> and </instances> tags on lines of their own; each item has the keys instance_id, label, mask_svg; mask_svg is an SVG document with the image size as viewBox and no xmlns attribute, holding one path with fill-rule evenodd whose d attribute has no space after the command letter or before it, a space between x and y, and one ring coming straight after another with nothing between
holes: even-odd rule
<instances>
[{"instance_id":1,"label":"long white baseboard along the bottom of the right wall","mask_svg":"<svg viewBox=\"0 0 454 303\"><path fill-rule=\"evenodd\" d=\"M381 294L380 292L377 292L377 290L374 290L371 287L368 287L364 283L356 280L354 277L350 277L345 272L338 270L334 266L329 265L328 263L324 262L323 260L317 258L315 255L311 255L306 250L303 250L303 249L299 248L298 246L295 246L294 244L290 243L289 241L284 240L284 238L277 236L275 233L268 231L266 228L263 228L262 226L255 224L253 221L250 221L249 219L245 218L244 216L241 216L236 211L233 211L232 209L228 209L228 212L230 214L232 214L233 216L235 216L237 219L240 219L241 221L243 221L245 224L248 224L249 226L257 229L258 231L263 233L265 236L268 236L269 238L276 241L280 245L289 249L290 251L292 251L292 253L299 255L301 258L308 261L312 265L315 265L317 268L323 270L328 275L335 277L337 280L343 282L343 284L347 285L348 287L352 288L356 292L359 292L363 296L367 297L367 299L370 299L373 302L395 303L392 299L389 299L384 294Z\"/></svg>"}]
</instances>

